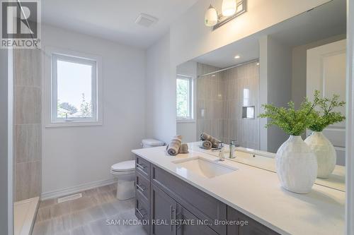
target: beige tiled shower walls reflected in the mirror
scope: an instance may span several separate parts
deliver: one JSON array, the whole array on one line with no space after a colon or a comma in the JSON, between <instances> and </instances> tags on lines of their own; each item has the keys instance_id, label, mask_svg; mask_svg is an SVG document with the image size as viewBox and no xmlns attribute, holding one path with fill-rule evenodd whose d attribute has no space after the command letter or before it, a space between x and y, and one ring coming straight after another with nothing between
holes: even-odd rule
<instances>
[{"instance_id":1,"label":"beige tiled shower walls reflected in the mirror","mask_svg":"<svg viewBox=\"0 0 354 235\"><path fill-rule=\"evenodd\" d=\"M217 68L198 64L198 75L212 71ZM199 78L197 97L197 133L204 131L224 143L238 140L242 147L259 149L257 62ZM243 106L255 107L255 119L242 119Z\"/></svg>"}]
</instances>

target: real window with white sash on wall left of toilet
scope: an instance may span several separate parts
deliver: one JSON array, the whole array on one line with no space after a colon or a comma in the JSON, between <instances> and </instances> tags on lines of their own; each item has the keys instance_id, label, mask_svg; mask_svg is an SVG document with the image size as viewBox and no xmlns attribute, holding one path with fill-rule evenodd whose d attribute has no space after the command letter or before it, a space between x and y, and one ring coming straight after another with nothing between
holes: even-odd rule
<instances>
[{"instance_id":1,"label":"real window with white sash on wall left of toilet","mask_svg":"<svg viewBox=\"0 0 354 235\"><path fill-rule=\"evenodd\" d=\"M52 54L52 123L98 121L97 61Z\"/></svg>"}]
</instances>

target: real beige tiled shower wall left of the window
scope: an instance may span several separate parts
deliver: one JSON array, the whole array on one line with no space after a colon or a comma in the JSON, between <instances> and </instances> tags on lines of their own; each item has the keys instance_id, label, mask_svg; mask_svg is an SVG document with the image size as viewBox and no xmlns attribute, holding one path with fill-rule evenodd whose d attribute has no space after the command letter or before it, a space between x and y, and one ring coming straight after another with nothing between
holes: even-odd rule
<instances>
[{"instance_id":1,"label":"real beige tiled shower wall left of the window","mask_svg":"<svg viewBox=\"0 0 354 235\"><path fill-rule=\"evenodd\" d=\"M37 197L41 187L41 52L15 49L15 201Z\"/></svg>"}]
</instances>

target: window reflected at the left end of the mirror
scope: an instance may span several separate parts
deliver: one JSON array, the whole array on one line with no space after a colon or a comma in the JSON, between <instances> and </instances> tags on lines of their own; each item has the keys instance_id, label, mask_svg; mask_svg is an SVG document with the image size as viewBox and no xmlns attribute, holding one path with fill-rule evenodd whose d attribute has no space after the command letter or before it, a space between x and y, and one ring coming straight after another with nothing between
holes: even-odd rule
<instances>
[{"instance_id":1,"label":"window reflected at the left end of the mirror","mask_svg":"<svg viewBox=\"0 0 354 235\"><path fill-rule=\"evenodd\" d=\"M177 77L177 119L193 119L193 78Z\"/></svg>"}]
</instances>

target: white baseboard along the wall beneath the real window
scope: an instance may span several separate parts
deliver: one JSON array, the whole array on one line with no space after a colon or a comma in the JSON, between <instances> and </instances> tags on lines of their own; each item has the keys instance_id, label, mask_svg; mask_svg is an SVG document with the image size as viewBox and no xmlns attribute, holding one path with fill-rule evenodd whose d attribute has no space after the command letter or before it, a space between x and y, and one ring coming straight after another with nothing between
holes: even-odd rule
<instances>
[{"instance_id":1,"label":"white baseboard along the wall beneath the real window","mask_svg":"<svg viewBox=\"0 0 354 235\"><path fill-rule=\"evenodd\" d=\"M45 192L40 195L40 200L59 198L64 195L79 193L79 192L82 192L85 190L89 190L91 188L98 188L98 187L106 186L108 184L115 183L115 182L117 182L117 179L105 179L103 181L93 181L90 183L83 183L78 186L72 186L69 188L62 188L62 189L58 189L55 191Z\"/></svg>"}]
</instances>

